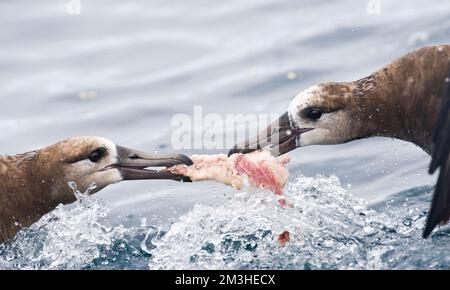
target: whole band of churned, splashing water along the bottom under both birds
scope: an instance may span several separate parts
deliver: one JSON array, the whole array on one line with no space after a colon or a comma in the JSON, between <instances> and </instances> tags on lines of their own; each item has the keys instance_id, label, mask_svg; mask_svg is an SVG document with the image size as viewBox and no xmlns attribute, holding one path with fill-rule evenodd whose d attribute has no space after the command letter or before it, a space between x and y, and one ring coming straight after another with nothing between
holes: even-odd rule
<instances>
[{"instance_id":1,"label":"whole band of churned, splashing water along the bottom under both birds","mask_svg":"<svg viewBox=\"0 0 450 290\"><path fill-rule=\"evenodd\" d=\"M167 232L145 222L105 226L109 208L90 196L1 245L0 268L449 268L450 231L421 238L431 190L412 189L375 211L337 177L301 176L285 190L293 208L267 191L241 192L218 206L195 205ZM290 242L282 247L284 231Z\"/></svg>"}]
</instances>

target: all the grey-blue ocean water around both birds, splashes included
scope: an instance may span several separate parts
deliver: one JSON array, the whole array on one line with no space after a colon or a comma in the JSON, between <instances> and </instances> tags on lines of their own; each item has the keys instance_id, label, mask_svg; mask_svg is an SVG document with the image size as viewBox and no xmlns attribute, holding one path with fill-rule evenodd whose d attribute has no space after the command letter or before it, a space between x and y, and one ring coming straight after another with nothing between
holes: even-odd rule
<instances>
[{"instance_id":1,"label":"all the grey-blue ocean water around both birds, splashes included","mask_svg":"<svg viewBox=\"0 0 450 290\"><path fill-rule=\"evenodd\" d=\"M68 2L0 3L2 154L78 135L172 152L177 113L281 114L311 85L450 33L437 0L381 0L379 14L369 1L81 0L71 15ZM0 245L0 268L449 268L448 226L421 238L436 177L420 148L372 138L290 155L292 209L213 182L123 182Z\"/></svg>"}]
</instances>

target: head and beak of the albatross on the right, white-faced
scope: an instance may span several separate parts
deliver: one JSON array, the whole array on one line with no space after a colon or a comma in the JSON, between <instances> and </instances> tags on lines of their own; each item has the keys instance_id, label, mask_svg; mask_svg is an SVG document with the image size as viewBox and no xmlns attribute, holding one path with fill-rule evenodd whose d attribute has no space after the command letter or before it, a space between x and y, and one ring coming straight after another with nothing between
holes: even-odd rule
<instances>
[{"instance_id":1,"label":"head and beak of the albatross on the right, white-faced","mask_svg":"<svg viewBox=\"0 0 450 290\"><path fill-rule=\"evenodd\" d=\"M355 116L353 90L348 83L326 83L300 92L288 111L258 136L237 144L233 153L271 146L281 155L307 145L339 144L362 137L361 118Z\"/></svg>"}]
</instances>

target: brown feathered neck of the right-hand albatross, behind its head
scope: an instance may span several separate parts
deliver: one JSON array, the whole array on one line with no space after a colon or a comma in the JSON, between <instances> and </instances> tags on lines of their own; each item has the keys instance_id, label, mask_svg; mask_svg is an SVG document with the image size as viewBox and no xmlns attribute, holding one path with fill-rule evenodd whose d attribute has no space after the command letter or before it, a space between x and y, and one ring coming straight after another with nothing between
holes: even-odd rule
<instances>
[{"instance_id":1,"label":"brown feathered neck of the right-hand albatross, behind its head","mask_svg":"<svg viewBox=\"0 0 450 290\"><path fill-rule=\"evenodd\" d=\"M447 62L437 61L435 53L428 49L407 54L355 82L365 137L397 138L432 151L433 127L448 76Z\"/></svg>"}]
</instances>

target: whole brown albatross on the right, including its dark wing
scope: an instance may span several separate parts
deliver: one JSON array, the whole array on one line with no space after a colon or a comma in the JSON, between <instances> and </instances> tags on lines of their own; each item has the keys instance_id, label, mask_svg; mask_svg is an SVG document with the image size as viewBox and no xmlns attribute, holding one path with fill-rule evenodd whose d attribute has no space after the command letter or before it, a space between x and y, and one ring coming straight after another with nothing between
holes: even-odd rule
<instances>
[{"instance_id":1,"label":"whole brown albatross on the right, including its dark wing","mask_svg":"<svg viewBox=\"0 0 450 290\"><path fill-rule=\"evenodd\" d=\"M406 140L440 169L423 236L450 219L450 45L408 53L368 77L299 93L280 119L230 154L272 146L275 155L307 145L372 136Z\"/></svg>"}]
</instances>

